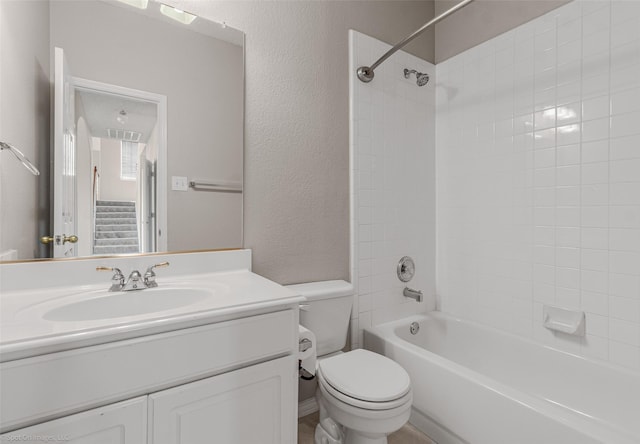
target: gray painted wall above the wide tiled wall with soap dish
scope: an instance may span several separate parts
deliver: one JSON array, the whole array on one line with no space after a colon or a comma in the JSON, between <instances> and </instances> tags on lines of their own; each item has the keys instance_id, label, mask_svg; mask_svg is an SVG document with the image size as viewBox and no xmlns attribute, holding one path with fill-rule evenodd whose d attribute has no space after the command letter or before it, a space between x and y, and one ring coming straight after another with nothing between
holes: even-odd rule
<instances>
[{"instance_id":1,"label":"gray painted wall above the wide tiled wall with soap dish","mask_svg":"<svg viewBox=\"0 0 640 444\"><path fill-rule=\"evenodd\" d=\"M460 0L436 0L441 14ZM570 0L476 0L436 25L435 63L440 63Z\"/></svg>"}]
</instances>

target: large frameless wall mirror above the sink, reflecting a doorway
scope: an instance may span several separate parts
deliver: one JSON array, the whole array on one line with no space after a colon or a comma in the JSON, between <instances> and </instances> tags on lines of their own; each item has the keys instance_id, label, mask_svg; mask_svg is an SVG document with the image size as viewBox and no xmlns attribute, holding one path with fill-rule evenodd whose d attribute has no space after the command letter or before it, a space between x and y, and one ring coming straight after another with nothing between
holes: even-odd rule
<instances>
[{"instance_id":1,"label":"large frameless wall mirror above the sink, reflecting a doorway","mask_svg":"<svg viewBox=\"0 0 640 444\"><path fill-rule=\"evenodd\" d=\"M1 0L0 32L0 260L242 247L241 31L154 0Z\"/></svg>"}]
</instances>

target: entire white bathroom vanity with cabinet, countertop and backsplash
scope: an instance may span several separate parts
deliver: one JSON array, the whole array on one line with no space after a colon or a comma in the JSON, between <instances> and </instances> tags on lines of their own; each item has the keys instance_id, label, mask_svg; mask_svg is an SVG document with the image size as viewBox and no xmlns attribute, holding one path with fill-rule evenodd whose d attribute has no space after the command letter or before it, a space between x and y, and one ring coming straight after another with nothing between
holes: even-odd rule
<instances>
[{"instance_id":1,"label":"entire white bathroom vanity with cabinet, countertop and backsplash","mask_svg":"<svg viewBox=\"0 0 640 444\"><path fill-rule=\"evenodd\" d=\"M42 264L0 265L1 439L295 442L302 298L249 271L248 250L108 265L160 260L159 286L131 292L105 291L104 259L49 262L35 288L21 274Z\"/></svg>"}]
</instances>

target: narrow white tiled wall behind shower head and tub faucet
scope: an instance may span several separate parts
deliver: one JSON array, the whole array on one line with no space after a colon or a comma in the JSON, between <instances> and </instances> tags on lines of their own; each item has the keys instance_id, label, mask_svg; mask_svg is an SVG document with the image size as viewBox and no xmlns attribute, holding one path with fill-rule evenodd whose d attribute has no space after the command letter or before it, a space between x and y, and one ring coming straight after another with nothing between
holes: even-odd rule
<instances>
[{"instance_id":1,"label":"narrow white tiled wall behind shower head and tub faucet","mask_svg":"<svg viewBox=\"0 0 640 444\"><path fill-rule=\"evenodd\" d=\"M350 31L350 153L352 202L352 347L362 329L424 311L435 301L435 67L398 52L368 84L355 73L390 48ZM404 78L404 69L431 76L427 86ZM409 283L422 290L418 304L402 295L398 260L416 262Z\"/></svg>"}]
</instances>

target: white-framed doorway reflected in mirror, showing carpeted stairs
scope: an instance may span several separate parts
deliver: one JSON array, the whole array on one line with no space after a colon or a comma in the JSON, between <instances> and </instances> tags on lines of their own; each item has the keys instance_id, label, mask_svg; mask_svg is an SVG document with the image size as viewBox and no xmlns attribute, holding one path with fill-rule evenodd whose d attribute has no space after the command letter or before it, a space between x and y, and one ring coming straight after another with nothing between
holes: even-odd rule
<instances>
[{"instance_id":1,"label":"white-framed doorway reflected in mirror, showing carpeted stairs","mask_svg":"<svg viewBox=\"0 0 640 444\"><path fill-rule=\"evenodd\" d=\"M77 254L163 251L166 197L157 178L166 159L166 98L78 78L73 85L76 220L85 240Z\"/></svg>"}]
</instances>

